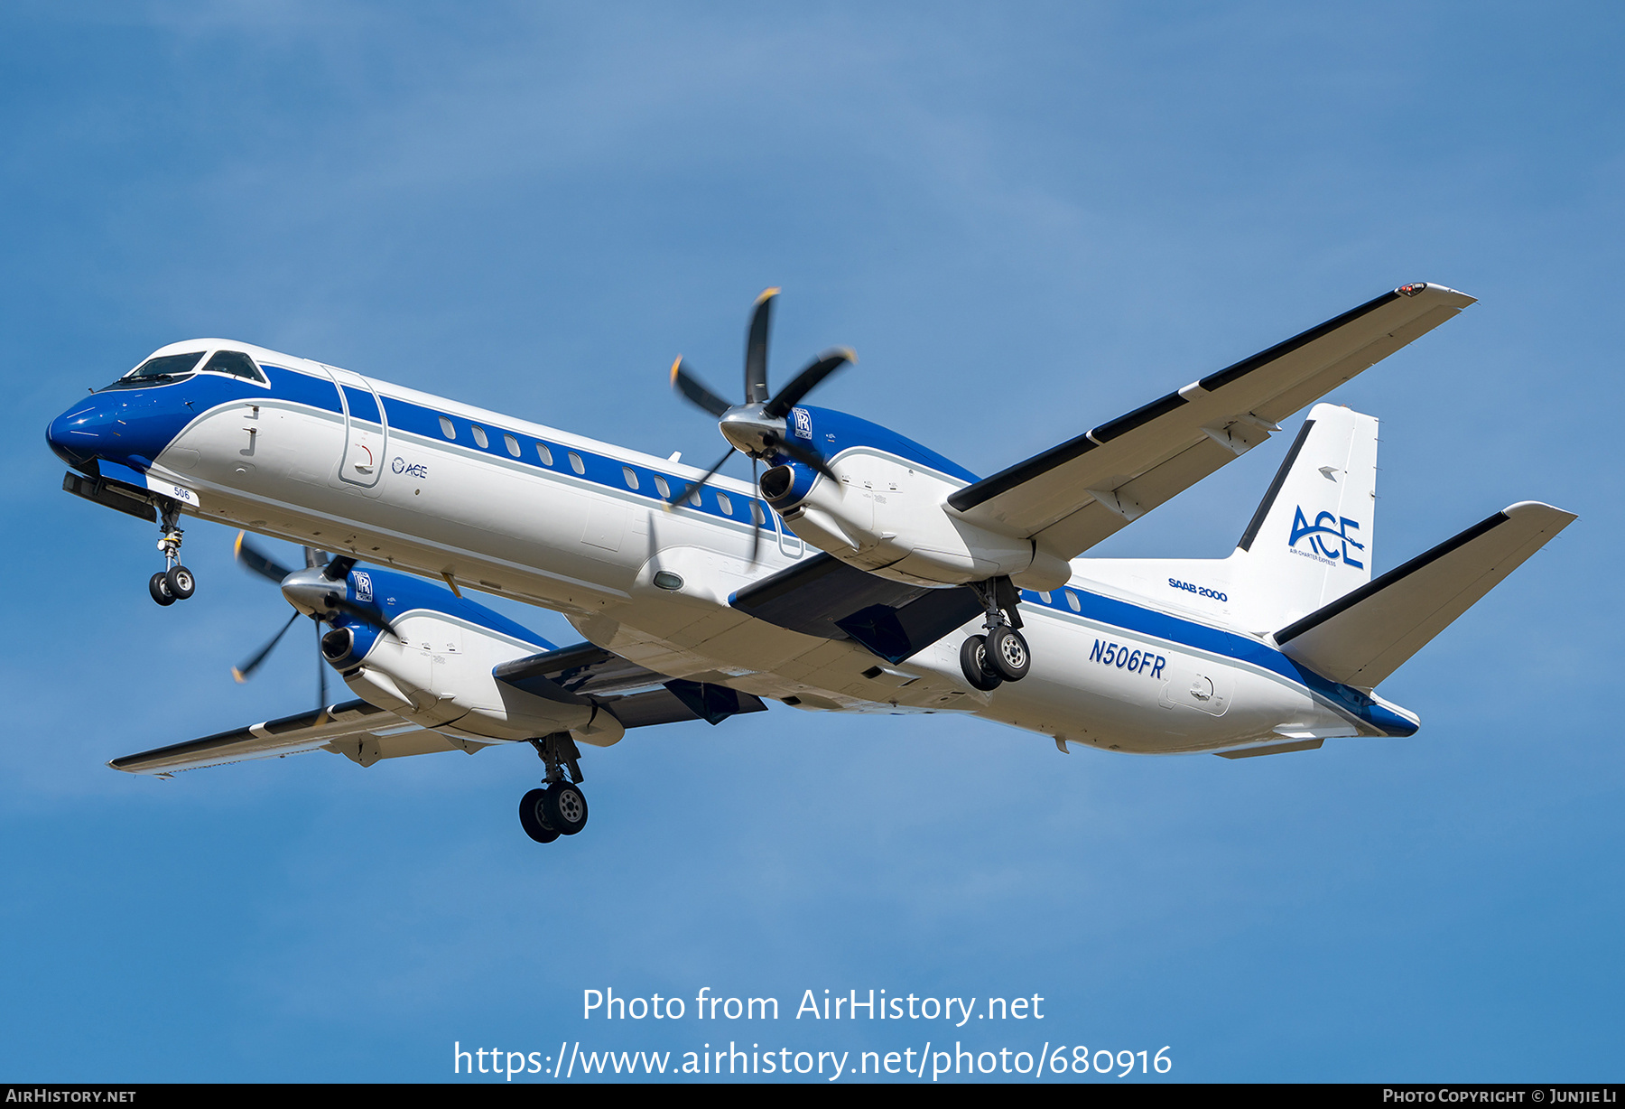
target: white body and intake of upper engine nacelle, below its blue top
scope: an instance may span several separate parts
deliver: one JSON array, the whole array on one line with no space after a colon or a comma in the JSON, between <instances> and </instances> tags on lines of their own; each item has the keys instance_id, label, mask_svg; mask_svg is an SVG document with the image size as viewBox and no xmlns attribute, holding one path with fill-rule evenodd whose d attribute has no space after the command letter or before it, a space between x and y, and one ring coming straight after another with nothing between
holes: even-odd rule
<instances>
[{"instance_id":1,"label":"white body and intake of upper engine nacelle, below its blue top","mask_svg":"<svg viewBox=\"0 0 1625 1109\"><path fill-rule=\"evenodd\" d=\"M1032 540L999 535L947 507L959 485L895 455L863 447L830 462L835 480L801 463L762 475L767 502L812 546L871 574L915 585L1011 577L1024 589L1071 581L1063 558Z\"/></svg>"}]
</instances>

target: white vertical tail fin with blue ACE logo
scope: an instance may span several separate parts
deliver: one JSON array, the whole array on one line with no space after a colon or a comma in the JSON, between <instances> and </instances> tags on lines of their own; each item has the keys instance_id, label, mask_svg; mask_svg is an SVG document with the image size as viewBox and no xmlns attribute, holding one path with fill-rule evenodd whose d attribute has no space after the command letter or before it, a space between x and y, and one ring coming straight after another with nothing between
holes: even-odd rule
<instances>
[{"instance_id":1,"label":"white vertical tail fin with blue ACE logo","mask_svg":"<svg viewBox=\"0 0 1625 1109\"><path fill-rule=\"evenodd\" d=\"M1315 405L1228 564L1232 620L1272 631L1372 581L1376 418Z\"/></svg>"}]
</instances>

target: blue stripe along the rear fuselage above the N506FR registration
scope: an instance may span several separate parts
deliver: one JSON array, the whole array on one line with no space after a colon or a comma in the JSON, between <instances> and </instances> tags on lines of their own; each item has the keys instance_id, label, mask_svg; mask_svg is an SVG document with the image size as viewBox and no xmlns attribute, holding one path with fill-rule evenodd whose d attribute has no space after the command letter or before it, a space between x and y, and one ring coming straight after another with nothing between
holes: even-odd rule
<instances>
[{"instance_id":1,"label":"blue stripe along the rear fuselage above the N506FR registration","mask_svg":"<svg viewBox=\"0 0 1625 1109\"><path fill-rule=\"evenodd\" d=\"M1081 613L1074 613L1071 605L1066 603L1068 592L1077 597L1079 607L1082 608ZM1090 594L1089 590L1076 587L1056 589L1050 594L1050 600L1043 600L1043 597L1035 592L1022 590L1022 602L1066 616L1097 620L1103 624L1112 624L1113 628L1121 628L1124 631L1138 631L1142 636L1154 636L1185 647L1206 650L1224 659L1251 663L1261 670L1280 675L1289 681L1295 681L1311 689L1344 712L1358 717L1386 735L1412 735L1417 730L1415 724L1391 709L1384 709L1358 689L1346 686L1339 681L1329 681L1313 670L1298 665L1274 647L1248 636L1238 636L1233 631L1198 624L1190 620L1157 611L1155 608L1146 608L1142 605L1116 600L1113 597L1102 597L1100 594Z\"/></svg>"}]
</instances>

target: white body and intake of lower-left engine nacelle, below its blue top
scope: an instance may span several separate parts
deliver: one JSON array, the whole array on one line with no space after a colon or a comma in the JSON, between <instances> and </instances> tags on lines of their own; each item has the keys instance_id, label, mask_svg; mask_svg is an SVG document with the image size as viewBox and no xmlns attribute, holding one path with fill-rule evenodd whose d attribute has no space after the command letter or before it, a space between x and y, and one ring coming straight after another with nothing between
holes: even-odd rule
<instances>
[{"instance_id":1,"label":"white body and intake of lower-left engine nacelle, below its blue top","mask_svg":"<svg viewBox=\"0 0 1625 1109\"><path fill-rule=\"evenodd\" d=\"M356 696L426 728L474 740L530 740L569 732L593 746L626 730L598 706L549 701L497 681L492 668L536 647L429 610L395 621L400 634L346 624L322 637L322 654Z\"/></svg>"}]
</instances>

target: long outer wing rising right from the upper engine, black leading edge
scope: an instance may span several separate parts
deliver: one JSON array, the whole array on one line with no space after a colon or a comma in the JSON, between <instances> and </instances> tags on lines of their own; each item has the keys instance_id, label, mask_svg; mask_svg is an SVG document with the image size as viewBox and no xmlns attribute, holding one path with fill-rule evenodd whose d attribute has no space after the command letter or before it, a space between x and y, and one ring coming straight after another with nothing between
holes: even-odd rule
<instances>
[{"instance_id":1,"label":"long outer wing rising right from the upper engine, black leading edge","mask_svg":"<svg viewBox=\"0 0 1625 1109\"><path fill-rule=\"evenodd\" d=\"M1072 558L1251 450L1277 423L1433 330L1474 298L1406 285L952 493L993 530Z\"/></svg>"}]
</instances>

